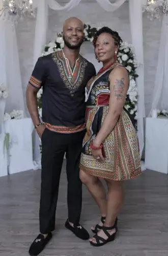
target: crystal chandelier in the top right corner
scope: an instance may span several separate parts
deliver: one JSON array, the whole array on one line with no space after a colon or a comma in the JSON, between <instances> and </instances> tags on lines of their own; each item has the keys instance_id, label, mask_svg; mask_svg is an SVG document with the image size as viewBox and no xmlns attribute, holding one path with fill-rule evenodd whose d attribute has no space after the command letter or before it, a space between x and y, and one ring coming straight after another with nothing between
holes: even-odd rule
<instances>
[{"instance_id":1,"label":"crystal chandelier in the top right corner","mask_svg":"<svg viewBox=\"0 0 168 256\"><path fill-rule=\"evenodd\" d=\"M161 19L162 13L168 14L168 0L147 0L142 6L142 11L147 13L150 20Z\"/></svg>"}]
</instances>

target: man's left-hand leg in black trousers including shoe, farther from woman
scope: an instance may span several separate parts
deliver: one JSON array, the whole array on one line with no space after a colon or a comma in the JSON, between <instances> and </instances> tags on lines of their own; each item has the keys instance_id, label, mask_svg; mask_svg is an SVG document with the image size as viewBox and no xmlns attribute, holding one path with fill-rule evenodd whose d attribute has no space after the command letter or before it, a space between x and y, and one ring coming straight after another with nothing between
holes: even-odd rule
<instances>
[{"instance_id":1,"label":"man's left-hand leg in black trousers including shoe, farther from woman","mask_svg":"<svg viewBox=\"0 0 168 256\"><path fill-rule=\"evenodd\" d=\"M64 135L45 129L42 135L40 233L30 247L31 255L38 255L51 239L55 228L60 174L66 151Z\"/></svg>"}]
</instances>

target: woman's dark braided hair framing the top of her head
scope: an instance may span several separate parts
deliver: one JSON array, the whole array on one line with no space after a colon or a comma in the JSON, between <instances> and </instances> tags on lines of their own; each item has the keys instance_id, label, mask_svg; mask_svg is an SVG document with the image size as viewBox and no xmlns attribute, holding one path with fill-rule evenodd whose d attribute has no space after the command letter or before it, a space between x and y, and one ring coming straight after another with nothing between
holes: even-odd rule
<instances>
[{"instance_id":1,"label":"woman's dark braided hair framing the top of her head","mask_svg":"<svg viewBox=\"0 0 168 256\"><path fill-rule=\"evenodd\" d=\"M121 44L121 42L122 42L122 39L121 39L121 37L119 36L119 33L118 33L117 31L111 30L111 29L108 28L108 27L103 27L103 28L101 28L101 29L99 29L99 30L97 31L97 33L95 34L94 39L93 39L93 45L94 45L94 47L96 47L97 37L98 37L100 34L102 34L102 33L108 33L108 34L110 34L110 35L114 38L114 40L115 40L115 45L117 45L118 47L120 47L120 44Z\"/></svg>"}]
</instances>

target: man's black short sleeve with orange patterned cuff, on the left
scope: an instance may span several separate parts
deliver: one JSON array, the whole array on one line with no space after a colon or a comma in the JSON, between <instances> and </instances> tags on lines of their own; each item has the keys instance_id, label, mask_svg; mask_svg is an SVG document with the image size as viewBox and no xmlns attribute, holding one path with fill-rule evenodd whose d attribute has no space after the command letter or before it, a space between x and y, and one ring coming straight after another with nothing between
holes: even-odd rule
<instances>
[{"instance_id":1,"label":"man's black short sleeve with orange patterned cuff, on the left","mask_svg":"<svg viewBox=\"0 0 168 256\"><path fill-rule=\"evenodd\" d=\"M42 84L44 83L45 77L46 69L43 63L43 57L40 57L36 62L35 68L32 72L32 76L29 80L29 84L36 87L37 89L40 89L42 87Z\"/></svg>"}]
</instances>

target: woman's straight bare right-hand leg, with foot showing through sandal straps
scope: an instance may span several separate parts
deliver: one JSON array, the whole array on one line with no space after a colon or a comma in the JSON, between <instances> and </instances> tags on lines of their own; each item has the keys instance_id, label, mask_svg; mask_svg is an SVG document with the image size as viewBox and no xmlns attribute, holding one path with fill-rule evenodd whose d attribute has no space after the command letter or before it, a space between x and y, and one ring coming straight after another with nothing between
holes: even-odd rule
<instances>
[{"instance_id":1,"label":"woman's straight bare right-hand leg, with foot showing through sandal straps","mask_svg":"<svg viewBox=\"0 0 168 256\"><path fill-rule=\"evenodd\" d=\"M108 196L107 196L107 211L106 211L106 219L103 226L112 227L115 224L116 217L121 209L124 199L123 193L123 182L122 181L111 181L106 180L108 186ZM115 233L115 229L108 230L108 233L111 235ZM98 236L107 239L106 234L103 230L98 232ZM94 238L90 239L96 243Z\"/></svg>"}]
</instances>

